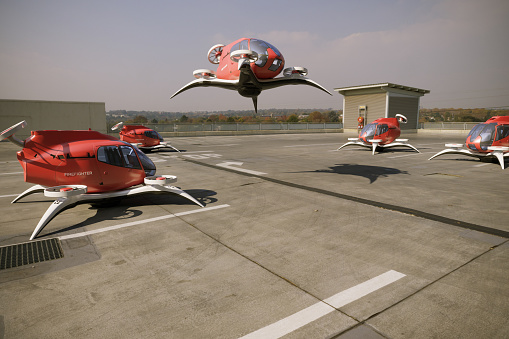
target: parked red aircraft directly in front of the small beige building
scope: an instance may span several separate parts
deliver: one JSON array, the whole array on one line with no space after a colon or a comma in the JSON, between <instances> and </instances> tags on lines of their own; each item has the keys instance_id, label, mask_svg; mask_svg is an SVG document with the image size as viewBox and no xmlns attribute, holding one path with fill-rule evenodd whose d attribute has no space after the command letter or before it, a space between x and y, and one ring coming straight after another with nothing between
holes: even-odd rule
<instances>
[{"instance_id":1,"label":"parked red aircraft directly in front of the small beige building","mask_svg":"<svg viewBox=\"0 0 509 339\"><path fill-rule=\"evenodd\" d=\"M372 148L372 154L375 154L377 149L405 146L419 152L417 148L407 143L408 139L397 139L401 134L401 129L399 128L400 122L406 124L407 118L404 115L396 114L395 118L376 119L360 131L358 138L348 138L349 141L337 150L339 151L349 145L358 145Z\"/></svg>"}]
</instances>

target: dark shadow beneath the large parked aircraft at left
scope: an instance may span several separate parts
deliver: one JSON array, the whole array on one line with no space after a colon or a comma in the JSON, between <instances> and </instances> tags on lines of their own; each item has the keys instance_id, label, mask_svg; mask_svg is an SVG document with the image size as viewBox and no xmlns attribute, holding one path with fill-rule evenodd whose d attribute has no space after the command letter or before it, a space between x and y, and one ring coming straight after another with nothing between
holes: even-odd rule
<instances>
[{"instance_id":1,"label":"dark shadow beneath the large parked aircraft at left","mask_svg":"<svg viewBox=\"0 0 509 339\"><path fill-rule=\"evenodd\" d=\"M217 201L216 198L211 196L216 195L215 191L204 190L204 189L191 189L186 190L196 200L200 201L203 205L211 204ZM87 204L84 202L83 204ZM88 203L90 204L90 203ZM198 207L189 200L182 198L174 194L145 194L137 195L132 197L125 197L122 199L110 199L108 201L90 204L89 209L95 210L95 215L83 220L75 225L68 226L66 228L60 228L48 233L42 234L42 236L51 236L67 232L75 229L80 229L85 226L94 225L98 222L105 220L115 221L127 221L128 219L138 217L143 212L136 207L147 206L147 205L190 205ZM69 208L71 209L71 208ZM58 218L58 215L56 216Z\"/></svg>"}]
</instances>

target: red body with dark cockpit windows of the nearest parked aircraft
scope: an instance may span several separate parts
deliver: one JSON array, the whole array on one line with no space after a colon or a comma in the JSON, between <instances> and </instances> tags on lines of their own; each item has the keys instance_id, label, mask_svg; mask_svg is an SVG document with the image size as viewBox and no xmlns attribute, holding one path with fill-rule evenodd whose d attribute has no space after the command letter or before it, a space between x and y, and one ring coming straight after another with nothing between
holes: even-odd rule
<instances>
[{"instance_id":1,"label":"red body with dark cockpit windows of the nearest parked aircraft","mask_svg":"<svg viewBox=\"0 0 509 339\"><path fill-rule=\"evenodd\" d=\"M32 131L17 157L26 182L86 185L89 193L138 185L155 173L141 151L95 131Z\"/></svg>"}]
</instances>

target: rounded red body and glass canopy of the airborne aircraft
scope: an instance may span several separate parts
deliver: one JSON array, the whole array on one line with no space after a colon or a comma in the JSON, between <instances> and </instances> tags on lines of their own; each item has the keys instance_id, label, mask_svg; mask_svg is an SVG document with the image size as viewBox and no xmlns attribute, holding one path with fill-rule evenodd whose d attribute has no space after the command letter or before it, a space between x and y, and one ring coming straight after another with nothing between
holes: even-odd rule
<instances>
[{"instance_id":1,"label":"rounded red body and glass canopy of the airborne aircraft","mask_svg":"<svg viewBox=\"0 0 509 339\"><path fill-rule=\"evenodd\" d=\"M236 50L251 50L258 54L258 60L250 65L258 79L276 77L285 65L281 52L268 42L254 38L241 38L224 46L216 71L219 79L237 80L239 78L238 63L230 59L230 54Z\"/></svg>"}]
</instances>

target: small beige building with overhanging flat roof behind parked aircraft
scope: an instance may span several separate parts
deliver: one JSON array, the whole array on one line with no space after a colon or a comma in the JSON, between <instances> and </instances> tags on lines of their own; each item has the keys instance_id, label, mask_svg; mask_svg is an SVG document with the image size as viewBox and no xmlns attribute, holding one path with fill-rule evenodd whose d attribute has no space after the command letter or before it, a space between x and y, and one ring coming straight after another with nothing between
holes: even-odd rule
<instances>
[{"instance_id":1,"label":"small beige building with overhanging flat roof behind parked aircraft","mask_svg":"<svg viewBox=\"0 0 509 339\"><path fill-rule=\"evenodd\" d=\"M426 89L391 83L334 88L343 95L343 127L357 130L358 118L364 125L378 118L392 118L403 114L408 122L402 130L417 129L419 122L419 99L429 93Z\"/></svg>"}]
</instances>

